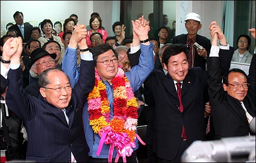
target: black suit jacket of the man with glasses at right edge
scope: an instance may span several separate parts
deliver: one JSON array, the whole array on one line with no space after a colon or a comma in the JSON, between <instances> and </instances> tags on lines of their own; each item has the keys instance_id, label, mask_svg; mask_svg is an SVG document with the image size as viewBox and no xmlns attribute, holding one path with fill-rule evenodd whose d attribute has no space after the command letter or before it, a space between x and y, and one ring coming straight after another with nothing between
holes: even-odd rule
<instances>
[{"instance_id":1,"label":"black suit jacket of the man with glasses at right edge","mask_svg":"<svg viewBox=\"0 0 256 163\"><path fill-rule=\"evenodd\" d=\"M248 135L249 123L242 105L238 99L223 90L219 60L220 58L217 57L208 59L208 93L216 139ZM250 71L251 85L243 103L247 112L255 117L255 55L250 67L254 67Z\"/></svg>"}]
</instances>

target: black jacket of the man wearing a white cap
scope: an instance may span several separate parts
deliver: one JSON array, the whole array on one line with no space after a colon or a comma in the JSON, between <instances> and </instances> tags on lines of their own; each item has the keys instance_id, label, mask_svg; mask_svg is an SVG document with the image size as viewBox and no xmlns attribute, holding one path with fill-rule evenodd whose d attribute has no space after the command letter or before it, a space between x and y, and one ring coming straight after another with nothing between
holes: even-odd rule
<instances>
[{"instance_id":1,"label":"black jacket of the man wearing a white cap","mask_svg":"<svg viewBox=\"0 0 256 163\"><path fill-rule=\"evenodd\" d=\"M187 42L187 34L181 34L181 35L175 36L173 37L173 40L172 40L173 44L177 44L177 43L187 44L186 42ZM210 40L204 36L197 35L196 42L206 49L207 56L209 56L210 48L211 48ZM203 70L205 70L205 64L206 64L206 59L204 57L199 56L196 50L195 67L199 66Z\"/></svg>"}]
</instances>

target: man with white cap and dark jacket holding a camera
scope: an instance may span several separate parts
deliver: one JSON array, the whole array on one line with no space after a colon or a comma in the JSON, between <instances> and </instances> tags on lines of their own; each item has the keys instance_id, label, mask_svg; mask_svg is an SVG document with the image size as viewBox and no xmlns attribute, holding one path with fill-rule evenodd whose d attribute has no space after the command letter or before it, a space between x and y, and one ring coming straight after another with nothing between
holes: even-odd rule
<instances>
[{"instance_id":1,"label":"man with white cap and dark jacket holding a camera","mask_svg":"<svg viewBox=\"0 0 256 163\"><path fill-rule=\"evenodd\" d=\"M172 40L173 44L182 43L189 45L188 64L190 67L201 67L206 70L206 57L209 56L211 43L204 36L198 35L197 32L202 28L200 15L191 12L186 15L185 28L187 34L175 36ZM193 44L197 42L203 49L196 49Z\"/></svg>"}]
</instances>

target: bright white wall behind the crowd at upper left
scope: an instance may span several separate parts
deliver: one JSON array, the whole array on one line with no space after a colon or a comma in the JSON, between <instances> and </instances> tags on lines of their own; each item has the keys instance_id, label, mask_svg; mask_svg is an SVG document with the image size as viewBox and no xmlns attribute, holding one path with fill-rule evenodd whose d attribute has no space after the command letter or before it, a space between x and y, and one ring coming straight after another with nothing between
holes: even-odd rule
<instances>
[{"instance_id":1,"label":"bright white wall behind the crowd at upper left","mask_svg":"<svg viewBox=\"0 0 256 163\"><path fill-rule=\"evenodd\" d=\"M98 12L102 25L111 34L112 22L119 21L120 17L120 2L114 3L113 12L112 4L113 1L1 1L1 37L6 34L6 24L15 23L13 14L16 11L23 12L24 22L33 26L46 18L53 23L63 22L73 13L78 15L79 24L88 25L91 13ZM112 14L115 15L112 17Z\"/></svg>"}]
</instances>

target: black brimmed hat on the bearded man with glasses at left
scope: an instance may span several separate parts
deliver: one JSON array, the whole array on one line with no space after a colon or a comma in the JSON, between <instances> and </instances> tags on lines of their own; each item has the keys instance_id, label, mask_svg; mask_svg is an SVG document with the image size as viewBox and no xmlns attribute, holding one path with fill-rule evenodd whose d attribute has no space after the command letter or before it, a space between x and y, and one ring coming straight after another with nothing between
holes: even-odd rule
<instances>
[{"instance_id":1,"label":"black brimmed hat on the bearded man with glasses at left","mask_svg":"<svg viewBox=\"0 0 256 163\"><path fill-rule=\"evenodd\" d=\"M39 47L34 49L31 54L30 54L30 64L29 64L29 69L32 67L32 65L39 60L42 57L45 56L51 56L52 59L56 58L56 53L49 53L48 51L44 50L43 48Z\"/></svg>"}]
</instances>

